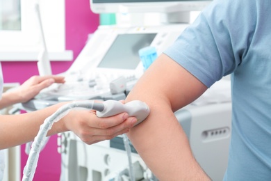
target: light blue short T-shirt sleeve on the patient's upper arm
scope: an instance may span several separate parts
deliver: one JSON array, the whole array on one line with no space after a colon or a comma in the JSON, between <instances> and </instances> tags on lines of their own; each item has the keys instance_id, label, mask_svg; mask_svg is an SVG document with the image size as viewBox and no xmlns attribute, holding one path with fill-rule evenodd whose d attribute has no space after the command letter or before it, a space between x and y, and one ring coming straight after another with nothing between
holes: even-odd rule
<instances>
[{"instance_id":1,"label":"light blue short T-shirt sleeve on the patient's upper arm","mask_svg":"<svg viewBox=\"0 0 271 181\"><path fill-rule=\"evenodd\" d=\"M213 1L164 52L207 87L236 70L249 46L236 3Z\"/></svg>"}]
</instances>

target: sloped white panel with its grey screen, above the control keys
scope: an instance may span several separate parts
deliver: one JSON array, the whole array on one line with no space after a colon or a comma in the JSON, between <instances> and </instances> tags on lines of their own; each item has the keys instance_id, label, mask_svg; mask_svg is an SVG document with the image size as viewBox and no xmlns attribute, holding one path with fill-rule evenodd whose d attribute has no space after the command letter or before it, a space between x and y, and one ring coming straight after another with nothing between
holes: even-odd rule
<instances>
[{"instance_id":1,"label":"sloped white panel with its grey screen, above the control keys","mask_svg":"<svg viewBox=\"0 0 271 181\"><path fill-rule=\"evenodd\" d=\"M143 47L156 47L161 54L176 40L188 24L172 24L167 26L99 26L83 48L79 57L67 72L80 70L84 78L95 74L142 75L142 63L138 55ZM115 62L116 61L116 62Z\"/></svg>"}]
</instances>

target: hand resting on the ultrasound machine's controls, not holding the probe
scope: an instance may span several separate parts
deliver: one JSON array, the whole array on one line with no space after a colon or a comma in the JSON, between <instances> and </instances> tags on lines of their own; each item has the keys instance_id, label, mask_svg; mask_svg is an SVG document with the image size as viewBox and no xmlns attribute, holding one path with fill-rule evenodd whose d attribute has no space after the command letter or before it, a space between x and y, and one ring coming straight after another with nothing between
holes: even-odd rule
<instances>
[{"instance_id":1,"label":"hand resting on the ultrasound machine's controls, not holding the probe","mask_svg":"<svg viewBox=\"0 0 271 181\"><path fill-rule=\"evenodd\" d=\"M15 90L19 96L18 102L27 102L38 95L42 89L51 86L51 84L65 83L64 79L65 77L56 75L32 76Z\"/></svg>"}]
</instances>

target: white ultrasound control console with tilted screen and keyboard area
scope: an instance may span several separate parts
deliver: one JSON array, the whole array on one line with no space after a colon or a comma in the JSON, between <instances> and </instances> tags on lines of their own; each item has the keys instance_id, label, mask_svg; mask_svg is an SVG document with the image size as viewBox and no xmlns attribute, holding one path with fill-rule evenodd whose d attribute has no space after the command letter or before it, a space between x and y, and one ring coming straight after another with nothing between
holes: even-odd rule
<instances>
[{"instance_id":1,"label":"white ultrasound control console with tilted screen and keyboard area","mask_svg":"<svg viewBox=\"0 0 271 181\"><path fill-rule=\"evenodd\" d=\"M33 111L69 100L123 100L144 73L139 49L151 46L162 54L186 26L99 26L69 70L63 72L65 84L46 88L22 107ZM110 84L120 77L124 77L126 90L115 93Z\"/></svg>"}]
</instances>

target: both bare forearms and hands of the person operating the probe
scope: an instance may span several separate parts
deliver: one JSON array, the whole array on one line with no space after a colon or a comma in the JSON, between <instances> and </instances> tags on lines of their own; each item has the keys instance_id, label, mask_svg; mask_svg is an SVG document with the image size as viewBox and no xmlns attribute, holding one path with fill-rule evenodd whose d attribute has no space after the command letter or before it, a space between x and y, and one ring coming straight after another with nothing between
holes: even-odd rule
<instances>
[{"instance_id":1,"label":"both bare forearms and hands of the person operating the probe","mask_svg":"<svg viewBox=\"0 0 271 181\"><path fill-rule=\"evenodd\" d=\"M43 88L53 83L64 83L64 77L33 76L19 88L3 93L0 107L7 107L19 102L27 102L35 97ZM54 106L19 115L0 116L0 150L33 141L44 120L69 102L61 102ZM93 110L72 110L62 119L54 123L47 136L60 132L72 131L87 143L97 143L129 132L136 123L136 118L129 118L127 113L120 113L110 118L98 118Z\"/></svg>"}]
</instances>

